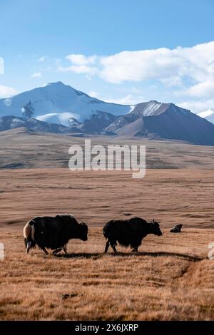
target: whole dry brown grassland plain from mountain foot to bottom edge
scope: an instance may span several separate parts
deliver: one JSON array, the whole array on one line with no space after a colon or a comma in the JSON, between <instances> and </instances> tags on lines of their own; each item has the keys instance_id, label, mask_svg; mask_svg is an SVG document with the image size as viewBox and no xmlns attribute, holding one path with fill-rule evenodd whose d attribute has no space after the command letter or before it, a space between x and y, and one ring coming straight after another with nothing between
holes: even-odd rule
<instances>
[{"instance_id":1,"label":"whole dry brown grassland plain from mountain foot to bottom edge","mask_svg":"<svg viewBox=\"0 0 214 335\"><path fill-rule=\"evenodd\" d=\"M146 177L134 180L124 171L69 171L68 144L82 140L0 135L0 319L214 319L213 147L145 142ZM68 257L26 255L25 223L58 213L86 222L88 241L71 240ZM154 217L163 236L148 235L138 254L120 246L103 254L103 225L132 215ZM178 223L183 232L171 234Z\"/></svg>"}]
</instances>

